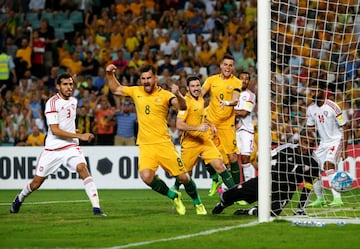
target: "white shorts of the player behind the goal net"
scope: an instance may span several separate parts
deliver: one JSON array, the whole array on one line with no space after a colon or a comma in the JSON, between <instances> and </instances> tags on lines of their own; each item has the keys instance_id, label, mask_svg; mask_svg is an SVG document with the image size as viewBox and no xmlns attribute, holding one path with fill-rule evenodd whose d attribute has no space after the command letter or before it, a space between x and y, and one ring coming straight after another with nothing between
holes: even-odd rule
<instances>
[{"instance_id":1,"label":"white shorts of the player behind the goal net","mask_svg":"<svg viewBox=\"0 0 360 249\"><path fill-rule=\"evenodd\" d=\"M321 169L324 170L325 162L337 163L341 159L342 140L336 140L329 143L320 143L315 151L316 157L319 159Z\"/></svg>"}]
</instances>

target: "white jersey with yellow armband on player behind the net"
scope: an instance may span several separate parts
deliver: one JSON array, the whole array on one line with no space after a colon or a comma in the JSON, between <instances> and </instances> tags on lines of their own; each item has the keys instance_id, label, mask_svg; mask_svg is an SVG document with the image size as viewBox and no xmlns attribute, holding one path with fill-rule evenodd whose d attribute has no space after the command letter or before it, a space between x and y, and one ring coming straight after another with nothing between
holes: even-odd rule
<instances>
[{"instance_id":1,"label":"white jersey with yellow armband on player behind the net","mask_svg":"<svg viewBox=\"0 0 360 249\"><path fill-rule=\"evenodd\" d=\"M340 107L326 99L322 106L311 104L307 109L307 126L316 126L321 143L329 143L343 138L341 127L346 120Z\"/></svg>"}]
</instances>

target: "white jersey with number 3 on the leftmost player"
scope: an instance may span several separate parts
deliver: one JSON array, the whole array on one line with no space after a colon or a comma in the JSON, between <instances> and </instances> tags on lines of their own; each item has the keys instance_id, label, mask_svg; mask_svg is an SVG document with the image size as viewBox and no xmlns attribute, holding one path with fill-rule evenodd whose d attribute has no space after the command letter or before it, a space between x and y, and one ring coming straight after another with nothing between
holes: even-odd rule
<instances>
[{"instance_id":1,"label":"white jersey with number 3 on the leftmost player","mask_svg":"<svg viewBox=\"0 0 360 249\"><path fill-rule=\"evenodd\" d=\"M74 97L65 100L56 94L46 102L45 116L49 129L45 140L45 150L61 150L79 144L78 139L60 138L55 136L50 129L51 124L58 124L60 129L76 133L76 108L77 99Z\"/></svg>"}]
</instances>

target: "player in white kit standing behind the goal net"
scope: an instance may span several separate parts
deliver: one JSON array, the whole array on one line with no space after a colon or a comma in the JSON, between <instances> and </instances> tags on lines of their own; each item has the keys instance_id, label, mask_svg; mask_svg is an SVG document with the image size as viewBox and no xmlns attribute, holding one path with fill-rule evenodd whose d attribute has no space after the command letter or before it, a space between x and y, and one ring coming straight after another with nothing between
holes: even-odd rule
<instances>
[{"instance_id":1,"label":"player in white kit standing behind the goal net","mask_svg":"<svg viewBox=\"0 0 360 249\"><path fill-rule=\"evenodd\" d=\"M327 85L323 80L311 83L310 91L313 103L306 111L307 127L317 131L320 137L319 147L315 155L320 161L321 170L325 172L329 182L337 171L337 164L341 157L347 157L346 144L348 140L347 120L340 107L326 96ZM314 184L317 200L308 206L325 206L326 201L322 193L322 183L318 180ZM343 205L341 194L331 189L333 201L329 206Z\"/></svg>"}]
</instances>

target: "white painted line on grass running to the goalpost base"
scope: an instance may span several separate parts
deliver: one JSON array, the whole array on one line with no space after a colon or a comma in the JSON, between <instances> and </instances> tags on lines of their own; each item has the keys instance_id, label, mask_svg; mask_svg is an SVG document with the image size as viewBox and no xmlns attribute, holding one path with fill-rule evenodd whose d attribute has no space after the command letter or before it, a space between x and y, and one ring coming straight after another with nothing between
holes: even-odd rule
<instances>
[{"instance_id":1,"label":"white painted line on grass running to the goalpost base","mask_svg":"<svg viewBox=\"0 0 360 249\"><path fill-rule=\"evenodd\" d=\"M206 231L202 231L202 232L199 232L199 233L186 234L186 235L170 237L170 238L164 238L164 239L158 239L158 240L142 241L142 242L136 242L136 243L126 244L126 245L121 245L121 246L106 247L106 248L103 248L103 249L122 249L122 248L144 246L144 245L154 244L154 243L158 243L158 242L166 242L166 241L173 241L173 240L180 240L180 239L189 239L189 238L203 236L203 235L210 235L210 234L214 234L214 233L218 233L218 232L222 232L222 231L233 230L233 229L237 229L237 228L241 228L241 227L251 227L251 226L255 226L257 224L259 224L259 222L254 221L254 222L250 222L250 223L246 223L246 224L240 224L240 225L236 225L236 226L220 227L220 228L216 228L216 229L206 230Z\"/></svg>"}]
</instances>

